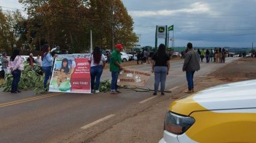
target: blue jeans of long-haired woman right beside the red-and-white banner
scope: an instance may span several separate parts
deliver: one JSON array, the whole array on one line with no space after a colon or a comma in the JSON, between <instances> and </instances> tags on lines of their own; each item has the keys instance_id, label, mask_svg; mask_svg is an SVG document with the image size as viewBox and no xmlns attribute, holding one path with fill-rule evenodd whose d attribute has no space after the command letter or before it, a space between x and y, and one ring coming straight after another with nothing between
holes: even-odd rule
<instances>
[{"instance_id":1,"label":"blue jeans of long-haired woman right beside the red-and-white banner","mask_svg":"<svg viewBox=\"0 0 256 143\"><path fill-rule=\"evenodd\" d=\"M101 80L102 65L96 65L91 67L91 90L94 90L94 81L96 78L96 90L99 90L99 82Z\"/></svg>"}]
</instances>

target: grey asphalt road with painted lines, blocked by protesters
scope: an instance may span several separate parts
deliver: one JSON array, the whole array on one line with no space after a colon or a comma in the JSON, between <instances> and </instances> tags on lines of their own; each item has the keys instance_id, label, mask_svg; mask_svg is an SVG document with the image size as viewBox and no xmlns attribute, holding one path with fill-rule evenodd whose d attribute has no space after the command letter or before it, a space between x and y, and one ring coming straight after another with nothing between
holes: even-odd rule
<instances>
[{"instance_id":1,"label":"grey asphalt road with painted lines, blocked by protesters","mask_svg":"<svg viewBox=\"0 0 256 143\"><path fill-rule=\"evenodd\" d=\"M200 63L195 78L223 67L238 58L227 58L226 63ZM165 90L175 90L186 84L182 72L183 60L170 62ZM150 71L150 64L129 68ZM102 80L111 79L105 70ZM145 87L153 89L154 74ZM196 90L196 89L195 89ZM88 142L91 137L106 131L112 125L144 111L149 106L166 99L152 96L152 92L121 90L119 95L107 93L71 94L49 93L32 95L0 94L0 142ZM127 125L129 126L129 125ZM125 127L124 127L125 129Z\"/></svg>"}]
</instances>

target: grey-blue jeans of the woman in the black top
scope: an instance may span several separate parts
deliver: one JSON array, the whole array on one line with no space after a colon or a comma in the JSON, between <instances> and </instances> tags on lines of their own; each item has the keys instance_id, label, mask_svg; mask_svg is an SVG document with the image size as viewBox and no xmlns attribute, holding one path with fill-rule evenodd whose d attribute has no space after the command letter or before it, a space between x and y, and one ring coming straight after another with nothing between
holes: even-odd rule
<instances>
[{"instance_id":1,"label":"grey-blue jeans of the woman in the black top","mask_svg":"<svg viewBox=\"0 0 256 143\"><path fill-rule=\"evenodd\" d=\"M167 76L167 67L165 66L156 66L154 67L154 73L155 73L155 85L154 85L154 91L157 92L159 88L159 83L161 83L160 91L163 92L165 89L165 80Z\"/></svg>"}]
</instances>

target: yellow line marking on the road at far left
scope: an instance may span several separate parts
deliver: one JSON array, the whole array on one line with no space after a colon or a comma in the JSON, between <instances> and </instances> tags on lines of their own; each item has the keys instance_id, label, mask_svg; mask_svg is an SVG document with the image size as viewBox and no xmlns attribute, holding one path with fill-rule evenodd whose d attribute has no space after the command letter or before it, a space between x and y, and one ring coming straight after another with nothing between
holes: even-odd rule
<instances>
[{"instance_id":1,"label":"yellow line marking on the road at far left","mask_svg":"<svg viewBox=\"0 0 256 143\"><path fill-rule=\"evenodd\" d=\"M51 96L62 95L62 94L63 93L52 93L52 94L49 94L49 95L37 96L37 97L26 98L26 99L21 99L21 100L17 100L17 101L11 101L11 102L8 102L8 103L2 103L2 104L0 104L0 108L6 107L6 106L11 106L11 105L14 105L14 104L26 103L26 102L34 101L34 100L37 100L37 99L48 98L48 97L51 97Z\"/></svg>"}]
</instances>

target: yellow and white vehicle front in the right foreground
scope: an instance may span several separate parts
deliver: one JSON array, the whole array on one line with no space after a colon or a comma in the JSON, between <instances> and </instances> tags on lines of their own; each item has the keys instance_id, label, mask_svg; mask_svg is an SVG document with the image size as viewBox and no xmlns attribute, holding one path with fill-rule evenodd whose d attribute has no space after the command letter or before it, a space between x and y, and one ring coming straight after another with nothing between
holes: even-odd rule
<instances>
[{"instance_id":1,"label":"yellow and white vehicle front in the right foreground","mask_svg":"<svg viewBox=\"0 0 256 143\"><path fill-rule=\"evenodd\" d=\"M255 86L256 80L229 83L174 101L159 142L256 142Z\"/></svg>"}]
</instances>

